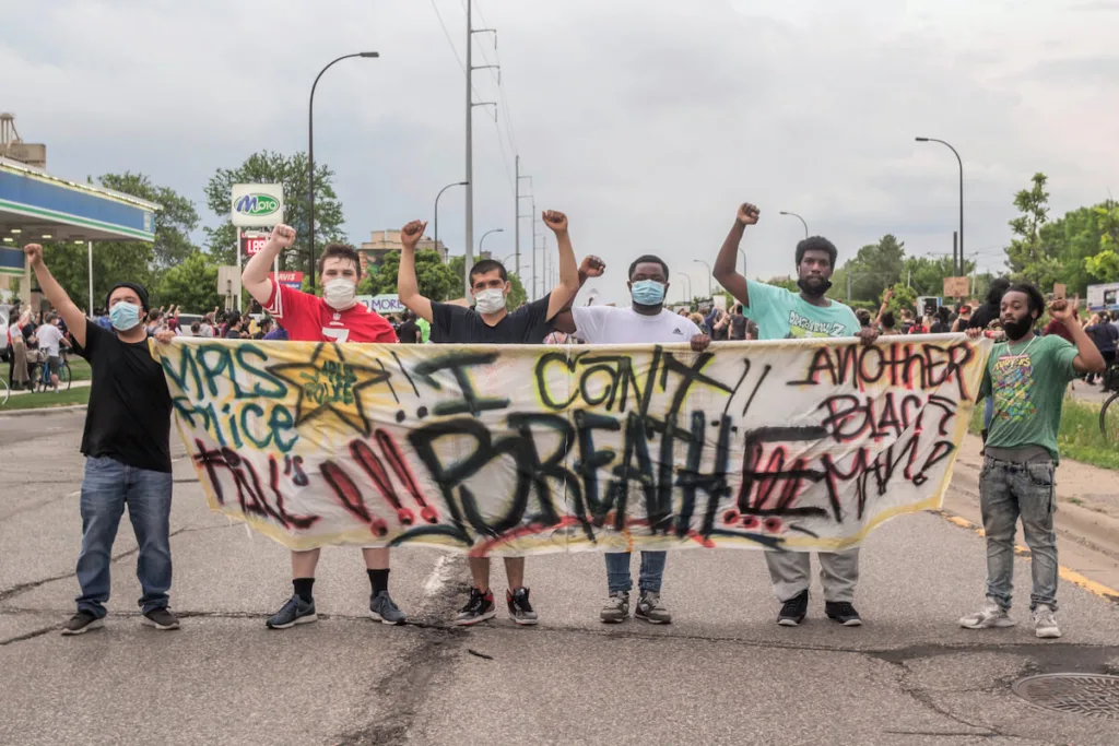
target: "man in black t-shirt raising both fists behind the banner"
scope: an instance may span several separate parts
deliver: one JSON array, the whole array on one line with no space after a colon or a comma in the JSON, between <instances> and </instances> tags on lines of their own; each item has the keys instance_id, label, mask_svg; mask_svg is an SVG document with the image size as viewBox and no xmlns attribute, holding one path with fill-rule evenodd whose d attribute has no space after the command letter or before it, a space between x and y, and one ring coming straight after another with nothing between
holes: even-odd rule
<instances>
[{"instance_id":1,"label":"man in black t-shirt raising both fists behind the banner","mask_svg":"<svg viewBox=\"0 0 1119 746\"><path fill-rule=\"evenodd\" d=\"M547 210L544 224L556 236L560 247L560 284L544 298L520 306L513 313L506 308L511 285L500 262L482 259L470 268L470 294L474 308L457 303L438 303L420 294L416 283L415 247L427 225L413 220L401 230L401 266L396 275L396 292L410 311L431 322L431 340L451 344L539 344L555 328L555 318L579 292L579 267L567 235L567 217ZM563 499L563 495L561 495ZM454 620L470 625L492 618L496 614L493 593L489 587L489 557L470 557L473 587L470 599ZM517 624L536 624L537 614L528 602L525 587L525 558L506 557L505 574L509 580L506 604L509 617Z\"/></svg>"}]
</instances>

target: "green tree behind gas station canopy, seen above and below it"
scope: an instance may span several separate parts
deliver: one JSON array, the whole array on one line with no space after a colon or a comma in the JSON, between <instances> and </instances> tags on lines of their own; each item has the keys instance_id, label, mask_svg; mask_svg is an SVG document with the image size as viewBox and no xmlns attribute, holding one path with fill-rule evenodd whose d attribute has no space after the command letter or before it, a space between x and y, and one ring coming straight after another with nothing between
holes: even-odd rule
<instances>
[{"instance_id":1,"label":"green tree behind gas station canopy, seen above and below it","mask_svg":"<svg viewBox=\"0 0 1119 746\"><path fill-rule=\"evenodd\" d=\"M109 189L157 202L156 240L96 242L93 245L93 304L104 303L105 295L117 282L138 282L151 292L151 300L159 304L154 292L162 270L179 261L180 256L197 251L187 234L198 223L198 215L189 200L173 189L152 185L147 176L137 173L106 173L98 179ZM189 247L189 251L187 251ZM47 243L43 258L50 273L58 280L78 308L87 306L90 296L90 265L84 243ZM32 289L38 285L32 283Z\"/></svg>"}]
</instances>

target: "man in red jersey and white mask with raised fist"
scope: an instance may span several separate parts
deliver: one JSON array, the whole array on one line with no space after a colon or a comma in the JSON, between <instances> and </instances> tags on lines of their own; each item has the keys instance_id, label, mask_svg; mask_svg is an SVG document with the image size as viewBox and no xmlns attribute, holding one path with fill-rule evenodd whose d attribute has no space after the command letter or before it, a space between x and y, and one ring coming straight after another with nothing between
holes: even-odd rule
<instances>
[{"instance_id":1,"label":"man in red jersey and white mask with raised fist","mask_svg":"<svg viewBox=\"0 0 1119 746\"><path fill-rule=\"evenodd\" d=\"M295 240L294 229L279 225L264 248L245 265L241 276L245 290L288 330L295 342L396 342L392 324L357 301L361 261L346 244L330 244L319 257L319 285L322 298L292 290L269 277L269 270L280 252ZM363 548L373 593L369 615L385 624L403 624L405 614L388 595L388 549ZM319 549L291 553L294 595L267 621L273 630L314 622L314 568Z\"/></svg>"}]
</instances>

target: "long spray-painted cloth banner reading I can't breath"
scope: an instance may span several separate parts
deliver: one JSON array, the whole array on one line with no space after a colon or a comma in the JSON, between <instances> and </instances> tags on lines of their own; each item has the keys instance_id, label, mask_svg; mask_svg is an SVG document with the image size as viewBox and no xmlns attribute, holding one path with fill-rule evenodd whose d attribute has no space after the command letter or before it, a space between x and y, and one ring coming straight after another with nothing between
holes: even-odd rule
<instances>
[{"instance_id":1,"label":"long spray-painted cloth banner reading I can't breath","mask_svg":"<svg viewBox=\"0 0 1119 746\"><path fill-rule=\"evenodd\" d=\"M210 508L288 547L836 550L937 508L989 341L152 344Z\"/></svg>"}]
</instances>

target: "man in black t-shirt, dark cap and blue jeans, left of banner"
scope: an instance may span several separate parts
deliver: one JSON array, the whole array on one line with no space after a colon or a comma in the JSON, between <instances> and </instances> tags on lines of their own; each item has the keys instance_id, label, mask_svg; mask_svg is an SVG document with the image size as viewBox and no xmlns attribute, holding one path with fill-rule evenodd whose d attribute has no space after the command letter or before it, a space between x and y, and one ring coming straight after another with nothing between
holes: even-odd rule
<instances>
[{"instance_id":1,"label":"man in black t-shirt, dark cap and blue jeans, left of banner","mask_svg":"<svg viewBox=\"0 0 1119 746\"><path fill-rule=\"evenodd\" d=\"M140 556L137 575L143 596L143 623L176 630L168 608L171 587L171 395L162 367L148 349L142 320L148 293L120 283L106 305L113 331L88 320L43 263L43 247L23 247L47 300L69 325L78 355L90 361L93 381L82 434L82 553L77 560L77 613L63 634L82 634L103 625L109 601L113 540L124 507L135 531ZM161 332L168 339L173 332Z\"/></svg>"}]
</instances>

